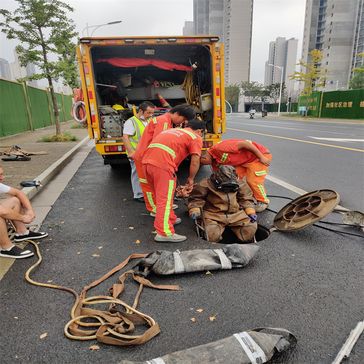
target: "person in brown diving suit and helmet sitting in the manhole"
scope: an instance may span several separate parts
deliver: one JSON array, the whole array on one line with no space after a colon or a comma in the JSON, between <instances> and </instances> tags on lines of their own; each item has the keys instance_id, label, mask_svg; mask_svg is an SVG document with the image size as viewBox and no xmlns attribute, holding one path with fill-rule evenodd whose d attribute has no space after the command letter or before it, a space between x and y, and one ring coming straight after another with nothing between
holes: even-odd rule
<instances>
[{"instance_id":1,"label":"person in brown diving suit and helmet sitting in the manhole","mask_svg":"<svg viewBox=\"0 0 364 364\"><path fill-rule=\"evenodd\" d=\"M209 240L217 243L229 226L242 243L254 242L257 215L252 191L239 180L231 165L220 166L210 177L197 183L188 198L192 219L200 219L202 207Z\"/></svg>"}]
</instances>

